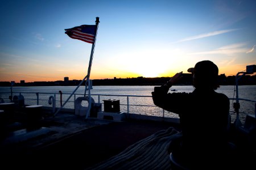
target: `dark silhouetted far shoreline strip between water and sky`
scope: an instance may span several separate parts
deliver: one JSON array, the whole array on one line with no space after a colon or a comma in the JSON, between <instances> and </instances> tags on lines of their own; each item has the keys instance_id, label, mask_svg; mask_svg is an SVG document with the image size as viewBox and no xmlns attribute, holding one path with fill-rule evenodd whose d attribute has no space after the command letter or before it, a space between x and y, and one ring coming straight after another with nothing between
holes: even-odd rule
<instances>
[{"instance_id":1,"label":"dark silhouetted far shoreline strip between water and sky","mask_svg":"<svg viewBox=\"0 0 256 170\"><path fill-rule=\"evenodd\" d=\"M93 79L93 86L161 86L166 83L170 77L157 77L157 78L144 78L139 76L137 78L113 78L113 79ZM218 82L220 86L236 85L236 76L226 76L221 74L218 76ZM57 81L36 81L36 82L24 82L20 80L18 82L0 82L1 87L8 86L78 86L81 80L68 80L66 76L64 80ZM177 86L192 86L192 74L186 74L183 79L176 84ZM238 85L256 85L256 75L243 75L240 76ZM81 84L85 86L85 82Z\"/></svg>"}]
</instances>

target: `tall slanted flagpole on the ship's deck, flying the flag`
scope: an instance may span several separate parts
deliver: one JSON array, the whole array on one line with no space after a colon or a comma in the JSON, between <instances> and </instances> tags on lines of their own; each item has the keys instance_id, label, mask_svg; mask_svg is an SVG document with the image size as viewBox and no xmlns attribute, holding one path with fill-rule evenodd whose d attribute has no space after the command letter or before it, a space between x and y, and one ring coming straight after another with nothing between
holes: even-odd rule
<instances>
[{"instance_id":1,"label":"tall slanted flagpole on the ship's deck, flying the flag","mask_svg":"<svg viewBox=\"0 0 256 170\"><path fill-rule=\"evenodd\" d=\"M91 84L90 84L90 70L91 70L91 67L92 67L93 53L94 53L94 47L95 47L97 31L98 31L98 23L100 23L100 18L96 17L95 22L96 22L96 25L97 25L96 35L95 35L95 38L94 38L94 42L92 44L92 50L90 52L90 61L89 61L87 79L86 79L86 82L85 82L85 91L84 91L84 96L86 96L86 91L88 90L88 98L89 98L88 109L87 109L87 113L86 113L86 117L85 117L86 119L89 117L90 108L92 107L92 98L90 96L90 87L91 87ZM88 86L88 88L87 88L87 86Z\"/></svg>"}]
</instances>

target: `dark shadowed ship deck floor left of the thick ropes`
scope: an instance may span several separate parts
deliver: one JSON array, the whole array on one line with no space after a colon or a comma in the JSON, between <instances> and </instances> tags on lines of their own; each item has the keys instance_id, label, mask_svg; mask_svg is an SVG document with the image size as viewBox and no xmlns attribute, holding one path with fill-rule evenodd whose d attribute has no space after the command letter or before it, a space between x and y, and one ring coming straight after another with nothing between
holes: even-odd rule
<instances>
[{"instance_id":1,"label":"dark shadowed ship deck floor left of the thick ropes","mask_svg":"<svg viewBox=\"0 0 256 170\"><path fill-rule=\"evenodd\" d=\"M86 169L160 130L180 130L168 121L85 120L70 113L33 126L11 124L2 133L1 169ZM243 169L255 169L255 158L255 152L241 151Z\"/></svg>"}]
</instances>

